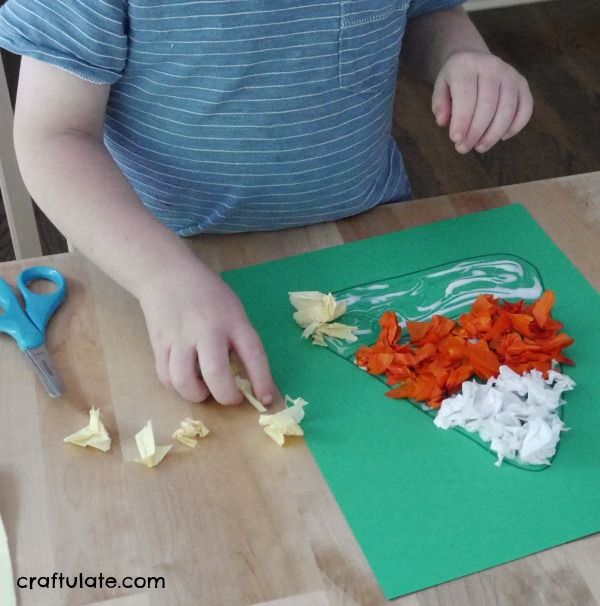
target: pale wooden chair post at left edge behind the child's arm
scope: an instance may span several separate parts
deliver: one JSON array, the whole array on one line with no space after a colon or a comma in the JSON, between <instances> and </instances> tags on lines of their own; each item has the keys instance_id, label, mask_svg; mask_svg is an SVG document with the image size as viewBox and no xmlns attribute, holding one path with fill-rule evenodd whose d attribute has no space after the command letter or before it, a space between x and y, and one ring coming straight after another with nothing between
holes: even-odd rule
<instances>
[{"instance_id":1,"label":"pale wooden chair post at left edge behind the child's arm","mask_svg":"<svg viewBox=\"0 0 600 606\"><path fill-rule=\"evenodd\" d=\"M0 61L0 191L15 257L39 257L42 246L33 203L21 178L13 143L14 114Z\"/></svg>"}]
</instances>

